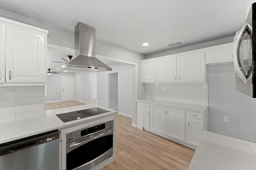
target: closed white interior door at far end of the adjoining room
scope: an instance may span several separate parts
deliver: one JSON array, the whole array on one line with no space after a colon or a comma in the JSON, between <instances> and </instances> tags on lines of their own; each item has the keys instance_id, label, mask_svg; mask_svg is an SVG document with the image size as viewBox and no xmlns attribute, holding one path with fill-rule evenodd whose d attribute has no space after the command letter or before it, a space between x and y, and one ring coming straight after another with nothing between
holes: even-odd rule
<instances>
[{"instance_id":1,"label":"closed white interior door at far end of the adjoining room","mask_svg":"<svg viewBox=\"0 0 256 170\"><path fill-rule=\"evenodd\" d=\"M74 100L74 77L62 76L62 101Z\"/></svg>"}]
</instances>

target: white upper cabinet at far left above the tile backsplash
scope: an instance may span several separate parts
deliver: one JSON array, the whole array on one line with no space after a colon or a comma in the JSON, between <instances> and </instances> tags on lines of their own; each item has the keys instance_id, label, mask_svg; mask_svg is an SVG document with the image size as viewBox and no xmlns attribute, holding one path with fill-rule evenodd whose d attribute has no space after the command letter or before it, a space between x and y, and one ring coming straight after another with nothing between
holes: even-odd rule
<instances>
[{"instance_id":1,"label":"white upper cabinet at far left above the tile backsplash","mask_svg":"<svg viewBox=\"0 0 256 170\"><path fill-rule=\"evenodd\" d=\"M5 58L6 84L46 83L47 33L44 29L1 18L1 63Z\"/></svg>"}]
</instances>

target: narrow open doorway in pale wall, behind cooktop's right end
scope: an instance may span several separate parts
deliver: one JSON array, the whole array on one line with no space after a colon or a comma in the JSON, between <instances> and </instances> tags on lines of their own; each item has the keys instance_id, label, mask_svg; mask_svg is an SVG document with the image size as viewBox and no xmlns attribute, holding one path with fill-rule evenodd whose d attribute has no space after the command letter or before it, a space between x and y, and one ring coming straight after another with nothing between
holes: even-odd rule
<instances>
[{"instance_id":1,"label":"narrow open doorway in pale wall, behind cooktop's right end","mask_svg":"<svg viewBox=\"0 0 256 170\"><path fill-rule=\"evenodd\" d=\"M118 109L118 73L110 73L108 74L108 108L111 109Z\"/></svg>"}]
</instances>

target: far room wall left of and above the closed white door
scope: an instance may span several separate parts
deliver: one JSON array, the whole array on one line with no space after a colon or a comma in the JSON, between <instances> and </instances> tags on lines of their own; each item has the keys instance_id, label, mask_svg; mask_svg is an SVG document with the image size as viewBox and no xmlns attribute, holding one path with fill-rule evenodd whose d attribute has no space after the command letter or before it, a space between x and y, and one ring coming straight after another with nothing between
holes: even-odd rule
<instances>
[{"instance_id":1,"label":"far room wall left of and above the closed white door","mask_svg":"<svg viewBox=\"0 0 256 170\"><path fill-rule=\"evenodd\" d=\"M62 76L74 77L74 73L47 74L47 96L45 102L62 101Z\"/></svg>"}]
</instances>

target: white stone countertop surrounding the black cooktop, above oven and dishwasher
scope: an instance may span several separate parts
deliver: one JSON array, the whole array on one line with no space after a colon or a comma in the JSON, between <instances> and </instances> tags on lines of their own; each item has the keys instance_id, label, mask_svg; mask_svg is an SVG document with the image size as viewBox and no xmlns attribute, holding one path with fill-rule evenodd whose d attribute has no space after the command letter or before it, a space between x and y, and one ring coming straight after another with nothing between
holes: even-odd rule
<instances>
[{"instance_id":1,"label":"white stone countertop surrounding the black cooktop, above oven and dishwasher","mask_svg":"<svg viewBox=\"0 0 256 170\"><path fill-rule=\"evenodd\" d=\"M90 108L94 108L94 107L99 107L101 109L105 109L110 112L86 117L83 119L78 119L76 121L69 121L66 123L63 123L56 116L56 114L60 114L60 113L67 113L70 111L77 111L77 110L82 110L82 109L90 109ZM76 125L79 123L85 123L85 122L92 121L95 119L101 119L104 117L114 115L117 112L118 111L116 111L116 110L108 109L106 107L101 107L101 106L97 106L94 104L46 110L46 116L44 116L44 117L37 117L37 118L33 118L33 119L26 119L26 120L22 120L22 121L15 121L15 122L10 122L10 123L0 124L0 144L14 141L17 139L21 139L24 137L29 137L32 135L37 135L39 133L52 131L55 129L62 129L62 128Z\"/></svg>"}]
</instances>

